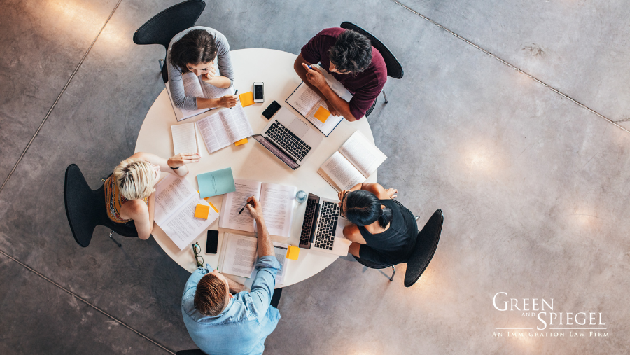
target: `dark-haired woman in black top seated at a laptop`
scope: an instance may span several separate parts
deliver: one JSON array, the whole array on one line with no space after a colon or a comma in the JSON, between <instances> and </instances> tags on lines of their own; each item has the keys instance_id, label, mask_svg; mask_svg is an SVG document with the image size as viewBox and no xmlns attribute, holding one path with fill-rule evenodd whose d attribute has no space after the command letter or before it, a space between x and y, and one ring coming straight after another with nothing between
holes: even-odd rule
<instances>
[{"instance_id":1,"label":"dark-haired woman in black top seated at a laptop","mask_svg":"<svg viewBox=\"0 0 630 355\"><path fill-rule=\"evenodd\" d=\"M341 214L351 225L344 228L353 256L379 263L404 263L418 235L416 218L393 200L398 190L378 183L361 183L339 193Z\"/></svg>"}]
</instances>

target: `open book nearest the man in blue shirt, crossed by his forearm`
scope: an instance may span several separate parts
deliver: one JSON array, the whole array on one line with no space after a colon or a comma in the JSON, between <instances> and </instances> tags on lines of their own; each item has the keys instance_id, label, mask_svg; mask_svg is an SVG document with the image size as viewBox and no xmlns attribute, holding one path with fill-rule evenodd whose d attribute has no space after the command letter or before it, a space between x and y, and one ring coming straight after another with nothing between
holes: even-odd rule
<instances>
[{"instance_id":1,"label":"open book nearest the man in blue shirt, crossed by his forearm","mask_svg":"<svg viewBox=\"0 0 630 355\"><path fill-rule=\"evenodd\" d=\"M232 233L225 233L225 250L219 260L219 272L240 277L251 277L256 260L258 260L258 240L255 237L246 237ZM288 244L274 242L274 253L282 269L276 274L276 284L283 285L286 277Z\"/></svg>"}]
</instances>

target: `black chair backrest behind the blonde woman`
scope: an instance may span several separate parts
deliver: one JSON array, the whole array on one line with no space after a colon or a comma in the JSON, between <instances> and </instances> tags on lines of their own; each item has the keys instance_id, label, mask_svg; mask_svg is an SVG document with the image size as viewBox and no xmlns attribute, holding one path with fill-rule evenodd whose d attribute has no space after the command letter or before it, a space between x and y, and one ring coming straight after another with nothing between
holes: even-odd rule
<instances>
[{"instance_id":1,"label":"black chair backrest behind the blonde woman","mask_svg":"<svg viewBox=\"0 0 630 355\"><path fill-rule=\"evenodd\" d=\"M66 168L64 183L66 216L74 240L80 246L90 244L94 228L99 224L99 207L102 209L105 207L104 193L101 195L102 199L99 200L98 195L87 185L78 166L71 164Z\"/></svg>"}]
</instances>

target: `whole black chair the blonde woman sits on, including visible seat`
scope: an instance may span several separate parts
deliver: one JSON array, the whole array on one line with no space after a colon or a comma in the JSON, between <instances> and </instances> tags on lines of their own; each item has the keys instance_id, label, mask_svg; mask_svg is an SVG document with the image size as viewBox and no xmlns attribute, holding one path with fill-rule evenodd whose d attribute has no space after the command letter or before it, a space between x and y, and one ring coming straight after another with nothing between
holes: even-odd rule
<instances>
[{"instance_id":1,"label":"whole black chair the blonde woman sits on, including visible seat","mask_svg":"<svg viewBox=\"0 0 630 355\"><path fill-rule=\"evenodd\" d=\"M72 235L80 246L90 245L94 228L97 225L104 225L111 229L109 237L118 246L122 245L113 239L114 232L123 237L138 237L138 231L133 221L116 223L109 219L105 207L104 186L92 190L76 164L71 164L66 168L64 204Z\"/></svg>"}]
</instances>

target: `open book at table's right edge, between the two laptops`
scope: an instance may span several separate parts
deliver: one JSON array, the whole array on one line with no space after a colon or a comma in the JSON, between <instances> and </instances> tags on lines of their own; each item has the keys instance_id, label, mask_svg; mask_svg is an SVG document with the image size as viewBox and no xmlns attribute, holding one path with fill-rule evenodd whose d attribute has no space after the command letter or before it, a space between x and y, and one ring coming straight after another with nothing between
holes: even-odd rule
<instances>
[{"instance_id":1,"label":"open book at table's right edge, between the two laptops","mask_svg":"<svg viewBox=\"0 0 630 355\"><path fill-rule=\"evenodd\" d=\"M374 174L386 159L387 156L370 143L363 133L356 131L317 172L335 190L349 190Z\"/></svg>"}]
</instances>

